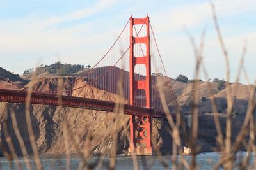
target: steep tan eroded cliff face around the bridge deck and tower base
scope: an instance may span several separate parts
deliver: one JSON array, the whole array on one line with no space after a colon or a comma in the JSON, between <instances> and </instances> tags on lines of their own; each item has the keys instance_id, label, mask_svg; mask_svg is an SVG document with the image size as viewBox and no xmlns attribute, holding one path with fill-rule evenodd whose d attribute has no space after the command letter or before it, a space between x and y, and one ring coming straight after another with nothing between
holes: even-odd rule
<instances>
[{"instance_id":1,"label":"steep tan eroded cliff face around the bridge deck and tower base","mask_svg":"<svg viewBox=\"0 0 256 170\"><path fill-rule=\"evenodd\" d=\"M64 78L64 83L73 81L74 78ZM35 89L55 89L58 78L41 78L36 81ZM28 84L29 85L29 84ZM74 84L76 87L86 85L82 80ZM104 99L116 101L117 95L104 90L86 86L83 89L74 90L72 96L90 97L93 99ZM127 103L124 98L122 102ZM8 117L4 118L4 108L8 106ZM3 124L6 122L8 132L15 146L15 151L22 155L20 145L13 131L12 118L10 117L13 108L17 118L20 134L26 145L29 154L33 154L29 141L28 127L26 123L25 105L17 103L0 103L1 134L3 146L8 148L5 141ZM70 153L93 155L109 155L113 148L113 136L117 134L117 153L125 154L129 148L129 115L122 113L107 113L104 111L84 110L79 108L65 108L61 106L45 106L32 104L29 110L33 132L35 134L36 146L39 153L63 154L65 153L65 125L68 127L67 138ZM163 154L170 155L172 152L172 138L167 132L168 123L163 119L152 120L152 145L158 146Z\"/></svg>"}]
</instances>

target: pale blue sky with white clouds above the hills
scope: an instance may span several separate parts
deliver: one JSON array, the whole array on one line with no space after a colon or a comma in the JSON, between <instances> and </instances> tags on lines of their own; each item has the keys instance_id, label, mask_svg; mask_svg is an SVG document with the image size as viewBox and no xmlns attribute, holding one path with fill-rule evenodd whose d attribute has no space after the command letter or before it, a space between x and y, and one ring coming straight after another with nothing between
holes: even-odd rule
<instances>
[{"instance_id":1,"label":"pale blue sky with white clouds above the hills","mask_svg":"<svg viewBox=\"0 0 256 170\"><path fill-rule=\"evenodd\" d=\"M256 1L213 0L236 80L246 42L242 83L256 79ZM193 79L195 56L186 31L200 45L205 30L204 64L209 78L225 78L225 58L209 1L191 0L0 0L0 67L22 74L36 64L93 66L106 53L125 23L150 17L168 76ZM204 76L201 77L205 81Z\"/></svg>"}]
</instances>

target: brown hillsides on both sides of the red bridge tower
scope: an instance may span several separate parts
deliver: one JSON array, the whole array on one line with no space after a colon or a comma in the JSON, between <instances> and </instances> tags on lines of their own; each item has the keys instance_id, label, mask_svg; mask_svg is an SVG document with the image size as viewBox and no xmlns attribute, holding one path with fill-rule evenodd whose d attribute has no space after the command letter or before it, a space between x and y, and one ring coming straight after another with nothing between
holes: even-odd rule
<instances>
[{"instance_id":1,"label":"brown hillsides on both sides of the red bridge tower","mask_svg":"<svg viewBox=\"0 0 256 170\"><path fill-rule=\"evenodd\" d=\"M104 73L104 70L106 69L108 69L108 66L100 67L92 71L90 74L95 74L96 70L100 70L101 73ZM116 74L122 72L122 70L117 67L114 69ZM60 78L60 76L63 76L63 83L65 84L74 81L77 76L84 74L86 71L86 69L82 69L76 73L68 74L68 76L63 76L63 74L49 74L46 72L40 73L36 78L35 89L54 90L57 87L58 78ZM127 72L125 72L125 74L127 74ZM84 80L88 80L89 77L90 76L85 76L84 79L76 81L73 87L77 88L86 85ZM6 78L8 78L8 76L6 76ZM173 99L169 96L170 88L168 79L164 76L160 76L159 78L163 82L164 94L166 95L165 99L170 106L170 111L175 113L175 110L173 109ZM190 115L191 104L193 102L193 83L182 83L171 78L169 79L172 83L173 91L177 97L177 102L182 113ZM28 85L29 83L26 86ZM231 84L232 90L234 90L235 85L236 84L234 83ZM214 96L216 97L218 112L220 113L221 129L223 129L223 133L225 134L225 113L227 108L226 91L225 89L218 90L216 83L211 83L211 86L214 91ZM214 138L214 136L216 136L216 129L212 115L211 103L209 101L210 93L206 82L200 82L198 89L200 89L198 144L202 146L201 152L209 152L214 150L214 147L216 147L216 141ZM248 85L237 84L237 93L235 94L236 100L233 108L234 117L232 117L232 123L236 124L236 126L232 127L232 141L236 139L236 135L239 132L241 123L243 122L246 114L249 89L250 87ZM74 90L72 92L72 96L105 99L108 101L116 101L118 97L114 92L106 92L93 86L85 86L83 89ZM204 100L202 100L203 97L205 97ZM124 103L127 103L127 99L123 98L122 100ZM2 122L4 104L5 103L0 103L0 117ZM29 154L31 154L32 150L29 143L28 131L26 129L26 120L24 119L25 106L24 104L9 103L8 107L12 107L15 110L22 138L24 139ZM89 149L96 155L109 155L111 153L111 146L113 145L113 134L118 134L118 154L127 153L127 148L129 146L127 135L129 134L126 134L124 129L124 127L129 125L129 116L127 115L116 115L115 113L106 113L102 111L42 106L36 104L32 104L30 113L35 132L36 145L39 152L42 154L64 153L63 128L65 120L67 120L67 124L70 129L68 132L68 141L71 153L77 153L77 148L79 148L79 150L84 154L88 153ZM12 141L15 145L15 150L20 155L20 146L15 137L10 117L8 117L7 124L10 136L12 137ZM124 127L122 125L124 125ZM152 144L154 146L159 146L161 153L164 155L172 153L172 138L168 128L168 122L166 122L166 120L152 120ZM1 128L1 135L4 139L3 128ZM77 143L76 147L74 143ZM8 148L5 142L4 146ZM90 147L88 148L88 146Z\"/></svg>"}]
</instances>

